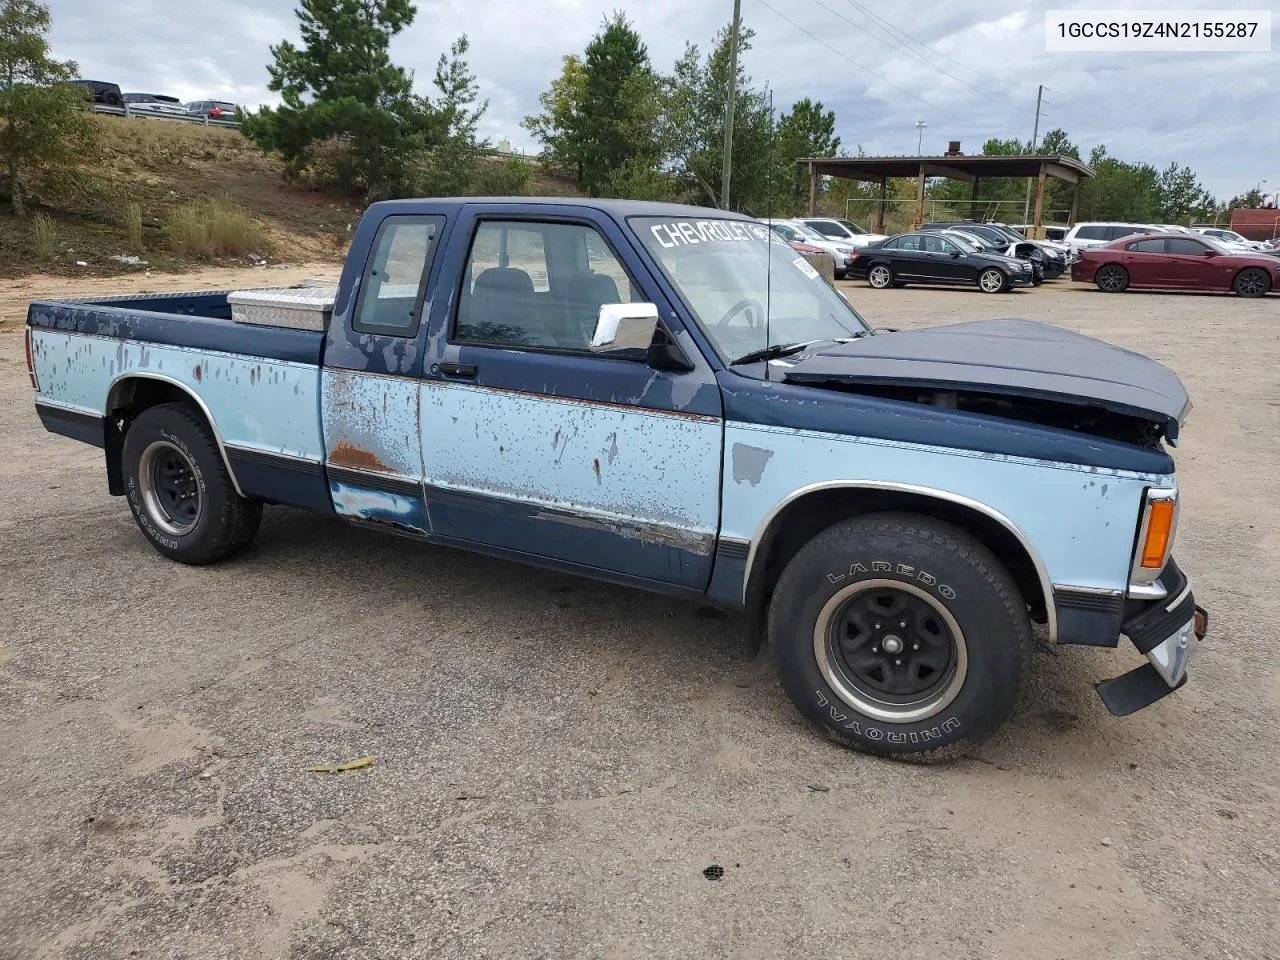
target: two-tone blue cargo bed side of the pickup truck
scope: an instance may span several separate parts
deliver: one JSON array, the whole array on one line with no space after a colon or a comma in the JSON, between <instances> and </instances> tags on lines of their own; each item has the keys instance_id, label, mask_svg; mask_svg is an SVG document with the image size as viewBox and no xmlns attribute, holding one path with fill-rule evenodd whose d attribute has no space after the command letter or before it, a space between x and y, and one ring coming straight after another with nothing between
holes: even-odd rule
<instances>
[{"instance_id":1,"label":"two-tone blue cargo bed side of the pickup truck","mask_svg":"<svg viewBox=\"0 0 1280 960\"><path fill-rule=\"evenodd\" d=\"M215 425L243 494L278 499L284 471L305 489L306 506L329 511L320 429L325 334L234 323L227 296L33 302L36 410L49 430L104 445L110 417L140 390L187 398Z\"/></svg>"}]
</instances>

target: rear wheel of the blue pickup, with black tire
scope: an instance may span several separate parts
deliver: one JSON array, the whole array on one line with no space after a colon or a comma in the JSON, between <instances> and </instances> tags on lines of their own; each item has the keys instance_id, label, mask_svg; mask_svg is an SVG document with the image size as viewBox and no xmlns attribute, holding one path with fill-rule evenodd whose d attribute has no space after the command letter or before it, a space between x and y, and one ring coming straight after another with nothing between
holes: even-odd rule
<instances>
[{"instance_id":1,"label":"rear wheel of the blue pickup, with black tire","mask_svg":"<svg viewBox=\"0 0 1280 960\"><path fill-rule=\"evenodd\" d=\"M183 403L150 407L129 425L124 489L138 529L179 563L215 563L244 549L262 504L236 493L204 417Z\"/></svg>"}]
</instances>

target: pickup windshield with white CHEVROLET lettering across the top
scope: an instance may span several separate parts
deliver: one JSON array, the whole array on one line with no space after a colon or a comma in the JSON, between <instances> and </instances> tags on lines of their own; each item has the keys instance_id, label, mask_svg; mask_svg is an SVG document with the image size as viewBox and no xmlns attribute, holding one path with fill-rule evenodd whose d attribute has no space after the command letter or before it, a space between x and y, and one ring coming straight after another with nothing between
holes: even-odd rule
<instances>
[{"instance_id":1,"label":"pickup windshield with white CHEVROLET lettering across the top","mask_svg":"<svg viewBox=\"0 0 1280 960\"><path fill-rule=\"evenodd\" d=\"M763 224L650 216L628 223L727 364L765 346L842 340L870 329Z\"/></svg>"}]
</instances>

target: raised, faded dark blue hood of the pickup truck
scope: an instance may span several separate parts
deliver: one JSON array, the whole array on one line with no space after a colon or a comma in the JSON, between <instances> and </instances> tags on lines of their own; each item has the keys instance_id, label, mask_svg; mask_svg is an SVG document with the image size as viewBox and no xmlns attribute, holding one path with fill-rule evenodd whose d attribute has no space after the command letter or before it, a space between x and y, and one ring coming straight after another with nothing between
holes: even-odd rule
<instances>
[{"instance_id":1,"label":"raised, faded dark blue hood of the pickup truck","mask_svg":"<svg viewBox=\"0 0 1280 960\"><path fill-rule=\"evenodd\" d=\"M1034 320L975 320L864 337L773 361L795 384L911 388L1092 407L1160 428L1176 444L1190 398L1169 367Z\"/></svg>"}]
</instances>

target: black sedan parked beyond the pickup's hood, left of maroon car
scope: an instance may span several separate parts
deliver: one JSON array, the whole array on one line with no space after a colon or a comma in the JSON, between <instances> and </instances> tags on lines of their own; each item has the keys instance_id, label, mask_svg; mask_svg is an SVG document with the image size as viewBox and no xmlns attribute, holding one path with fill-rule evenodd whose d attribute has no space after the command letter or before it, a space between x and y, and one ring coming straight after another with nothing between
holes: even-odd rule
<instances>
[{"instance_id":1,"label":"black sedan parked beyond the pickup's hood, left of maroon car","mask_svg":"<svg viewBox=\"0 0 1280 960\"><path fill-rule=\"evenodd\" d=\"M965 250L937 232L900 233L883 243L856 251L850 278L865 278L877 289L908 283L950 283L1002 293L1029 287L1034 280L1025 260L993 252Z\"/></svg>"}]
</instances>

